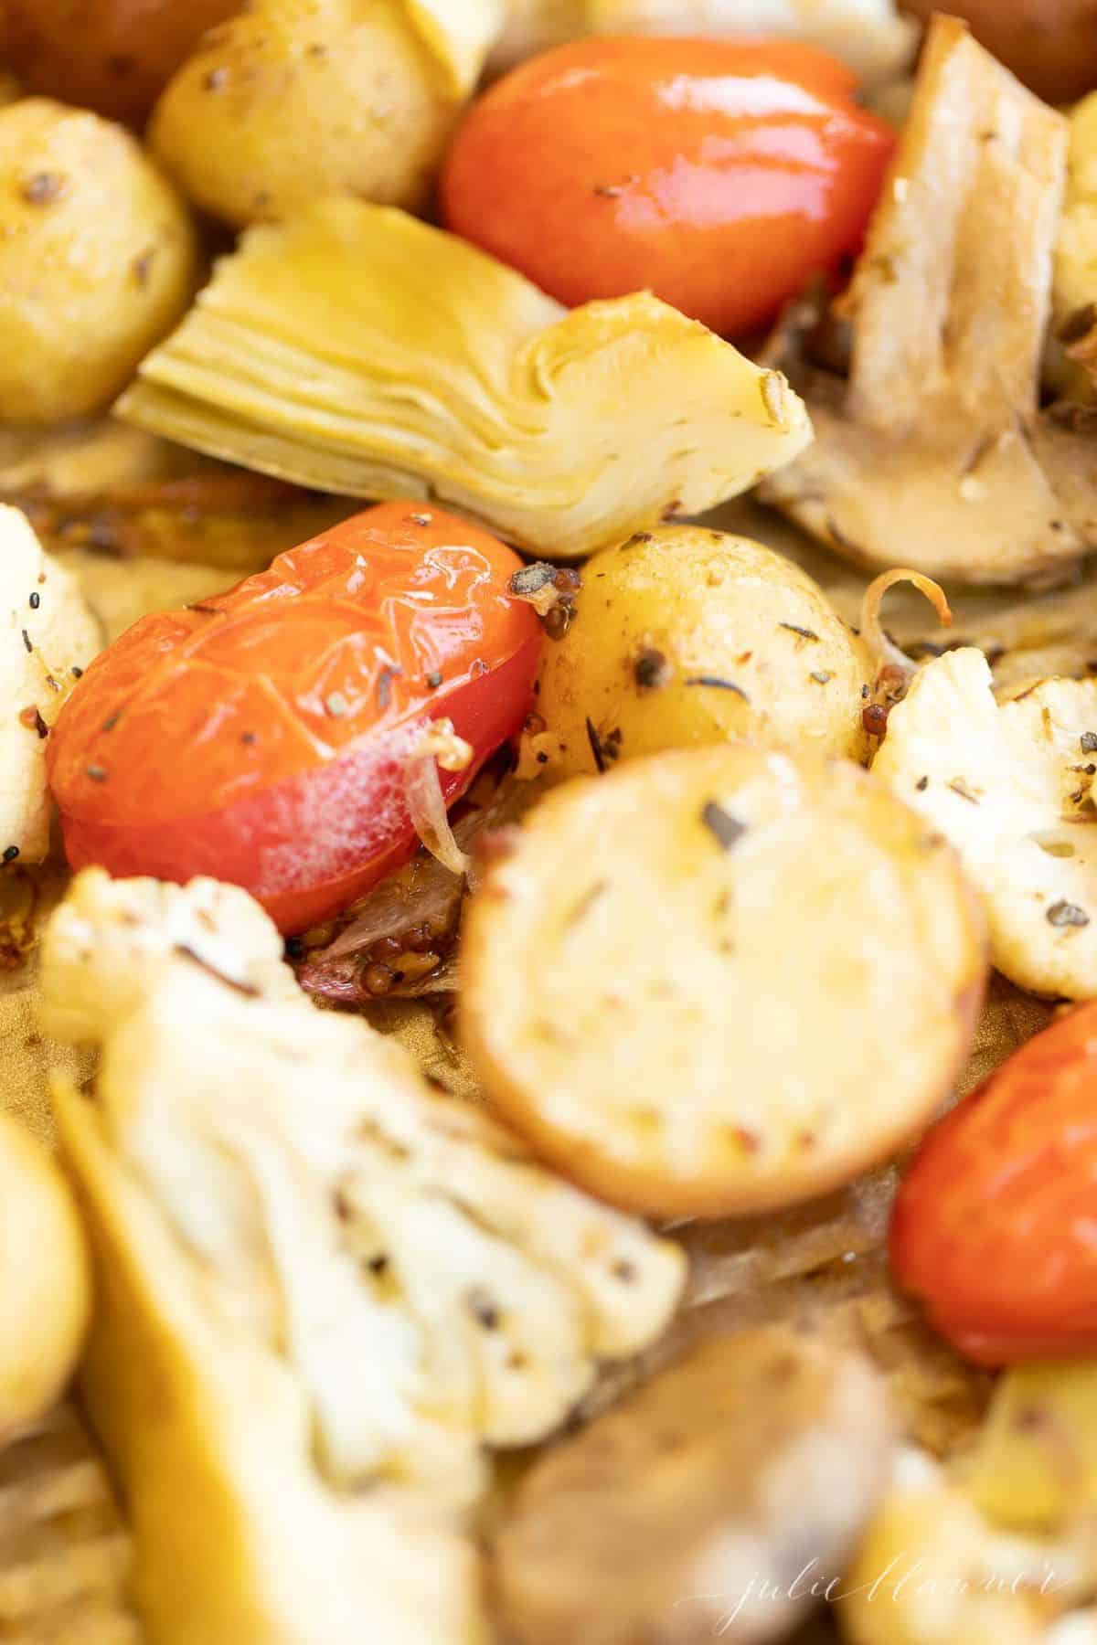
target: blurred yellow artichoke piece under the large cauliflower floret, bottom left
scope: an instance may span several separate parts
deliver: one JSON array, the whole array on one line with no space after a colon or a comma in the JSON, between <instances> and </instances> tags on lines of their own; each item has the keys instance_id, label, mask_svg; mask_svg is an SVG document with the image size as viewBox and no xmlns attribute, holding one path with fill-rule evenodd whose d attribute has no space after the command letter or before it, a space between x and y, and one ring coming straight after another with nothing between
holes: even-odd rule
<instances>
[{"instance_id":1,"label":"blurred yellow artichoke piece under the large cauliflower floret, bottom left","mask_svg":"<svg viewBox=\"0 0 1097 1645\"><path fill-rule=\"evenodd\" d=\"M485 1645L461 1528L410 1492L322 1479L289 1365L211 1313L194 1252L94 1107L71 1086L54 1107L97 1257L84 1395L133 1528L150 1645Z\"/></svg>"}]
</instances>

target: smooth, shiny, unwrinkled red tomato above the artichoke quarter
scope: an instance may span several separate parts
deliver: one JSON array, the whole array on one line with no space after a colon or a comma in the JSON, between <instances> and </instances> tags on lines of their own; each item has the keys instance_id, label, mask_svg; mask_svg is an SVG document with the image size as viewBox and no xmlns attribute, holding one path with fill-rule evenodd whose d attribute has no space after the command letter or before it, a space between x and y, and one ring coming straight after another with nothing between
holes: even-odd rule
<instances>
[{"instance_id":1,"label":"smooth, shiny, unwrinkled red tomato above the artichoke quarter","mask_svg":"<svg viewBox=\"0 0 1097 1645\"><path fill-rule=\"evenodd\" d=\"M860 247L896 138L852 87L789 41L559 46L472 107L444 219L569 306L650 288L742 336Z\"/></svg>"}]
</instances>

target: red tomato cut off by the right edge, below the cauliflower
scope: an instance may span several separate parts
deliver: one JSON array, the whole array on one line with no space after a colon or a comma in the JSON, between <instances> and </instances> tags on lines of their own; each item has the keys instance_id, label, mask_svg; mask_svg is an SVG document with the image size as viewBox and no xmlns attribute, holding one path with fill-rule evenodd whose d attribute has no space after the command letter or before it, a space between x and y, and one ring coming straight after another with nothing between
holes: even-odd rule
<instances>
[{"instance_id":1,"label":"red tomato cut off by the right edge, below the cauliflower","mask_svg":"<svg viewBox=\"0 0 1097 1645\"><path fill-rule=\"evenodd\" d=\"M929 1132L896 1196L890 1257L980 1365L1097 1351L1097 1002Z\"/></svg>"}]
</instances>

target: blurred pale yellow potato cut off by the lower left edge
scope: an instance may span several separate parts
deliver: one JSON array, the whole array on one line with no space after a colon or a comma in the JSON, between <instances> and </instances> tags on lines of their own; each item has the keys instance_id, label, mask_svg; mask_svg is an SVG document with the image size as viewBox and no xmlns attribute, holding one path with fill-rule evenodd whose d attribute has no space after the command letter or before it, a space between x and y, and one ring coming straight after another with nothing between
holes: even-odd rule
<instances>
[{"instance_id":1,"label":"blurred pale yellow potato cut off by the lower left edge","mask_svg":"<svg viewBox=\"0 0 1097 1645\"><path fill-rule=\"evenodd\" d=\"M0 1110L0 1444L58 1400L89 1314L89 1260L69 1184Z\"/></svg>"}]
</instances>

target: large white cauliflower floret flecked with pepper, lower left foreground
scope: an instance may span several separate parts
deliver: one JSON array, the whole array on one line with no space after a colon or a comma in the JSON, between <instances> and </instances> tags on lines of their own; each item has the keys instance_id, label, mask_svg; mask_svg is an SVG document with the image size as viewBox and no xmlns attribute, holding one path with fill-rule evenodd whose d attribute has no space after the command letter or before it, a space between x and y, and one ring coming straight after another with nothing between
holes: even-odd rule
<instances>
[{"instance_id":1,"label":"large white cauliflower floret flecked with pepper, lower left foreground","mask_svg":"<svg viewBox=\"0 0 1097 1645\"><path fill-rule=\"evenodd\" d=\"M266 918L215 890L232 928L204 931L209 882L81 875L43 946L44 1022L102 1041L104 1142L202 1313L291 1367L324 1476L469 1502L484 1446L544 1436L663 1329L683 1253L286 989Z\"/></svg>"}]
</instances>

